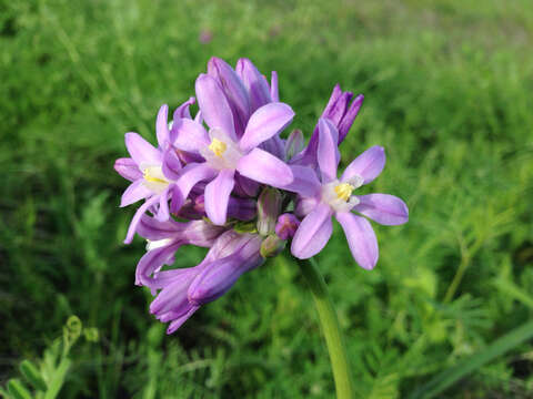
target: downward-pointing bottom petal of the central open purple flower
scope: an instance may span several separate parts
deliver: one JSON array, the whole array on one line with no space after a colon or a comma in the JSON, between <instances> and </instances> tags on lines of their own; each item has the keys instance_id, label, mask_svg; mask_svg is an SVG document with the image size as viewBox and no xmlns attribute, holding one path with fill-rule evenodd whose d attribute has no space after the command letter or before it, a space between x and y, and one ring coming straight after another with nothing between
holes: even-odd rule
<instances>
[{"instance_id":1,"label":"downward-pointing bottom petal of the central open purple flower","mask_svg":"<svg viewBox=\"0 0 533 399\"><path fill-rule=\"evenodd\" d=\"M228 202L235 185L234 171L222 170L219 175L205 186L205 213L215 225L225 224Z\"/></svg>"}]
</instances>

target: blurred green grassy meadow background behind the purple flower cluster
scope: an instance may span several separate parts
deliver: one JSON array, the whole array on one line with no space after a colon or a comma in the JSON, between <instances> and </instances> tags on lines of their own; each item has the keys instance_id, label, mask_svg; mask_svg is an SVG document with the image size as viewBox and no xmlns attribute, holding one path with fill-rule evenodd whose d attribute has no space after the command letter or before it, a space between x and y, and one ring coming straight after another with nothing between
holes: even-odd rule
<instances>
[{"instance_id":1,"label":"blurred green grassy meadow background behind the purple flower cluster","mask_svg":"<svg viewBox=\"0 0 533 399\"><path fill-rule=\"evenodd\" d=\"M159 106L188 99L218 55L276 70L308 136L336 82L364 93L341 167L385 146L372 191L404 198L411 218L374 224L372 272L340 229L318 260L358 396L435 396L425 382L533 315L532 39L530 0L1 0L0 385L23 379L22 359L46 377L77 315L99 340L70 350L61 398L333 397L289 258L173 336L133 285L144 244L122 245L134 212L119 209L127 182L112 168L123 133L154 142ZM533 397L533 341L510 346L438 397Z\"/></svg>"}]
</instances>

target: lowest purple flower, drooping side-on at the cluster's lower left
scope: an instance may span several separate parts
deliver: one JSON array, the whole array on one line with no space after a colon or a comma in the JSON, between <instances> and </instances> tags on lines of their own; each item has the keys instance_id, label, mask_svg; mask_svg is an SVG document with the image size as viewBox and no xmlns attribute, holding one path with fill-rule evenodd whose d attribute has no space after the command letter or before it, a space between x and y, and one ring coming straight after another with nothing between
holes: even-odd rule
<instances>
[{"instance_id":1,"label":"lowest purple flower, drooping side-on at the cluster's lower left","mask_svg":"<svg viewBox=\"0 0 533 399\"><path fill-rule=\"evenodd\" d=\"M147 253L164 254L152 256L157 262L152 262L150 269L159 269L161 260L172 256L175 250L172 245L175 244ZM225 294L243 273L264 262L260 246L258 235L227 231L214 241L198 266L159 272L149 282L152 291L160 290L150 305L150 313L162 323L171 321L167 332L174 332L200 306Z\"/></svg>"}]
</instances>

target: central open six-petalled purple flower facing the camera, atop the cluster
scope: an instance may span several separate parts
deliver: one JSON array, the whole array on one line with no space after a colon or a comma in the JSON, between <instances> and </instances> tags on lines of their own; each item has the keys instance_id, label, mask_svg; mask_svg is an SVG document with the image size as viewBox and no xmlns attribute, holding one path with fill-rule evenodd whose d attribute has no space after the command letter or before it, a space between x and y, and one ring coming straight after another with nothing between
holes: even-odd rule
<instances>
[{"instance_id":1,"label":"central open six-petalled purple flower facing the camera, atop the cluster","mask_svg":"<svg viewBox=\"0 0 533 399\"><path fill-rule=\"evenodd\" d=\"M202 117L210 127L209 132L202 124L189 119L173 123L171 136L175 137L175 147L200 155L203 162L190 163L183 168L173 192L172 211L177 212L182 206L197 183L210 181L204 193L205 213L214 224L223 225L237 172L240 176L274 187L292 182L291 168L258 146L284 130L291 123L294 112L284 103L271 102L247 119L247 104L243 100L247 96L243 94L245 92L238 89L239 78L228 70L219 74L224 75L225 82L231 82L227 83L227 88L232 88L231 103L217 79L209 74L201 74L197 79L197 99ZM237 111L232 111L232 108ZM235 129L239 123L245 123L242 135ZM242 188L247 191L243 186Z\"/></svg>"}]
</instances>

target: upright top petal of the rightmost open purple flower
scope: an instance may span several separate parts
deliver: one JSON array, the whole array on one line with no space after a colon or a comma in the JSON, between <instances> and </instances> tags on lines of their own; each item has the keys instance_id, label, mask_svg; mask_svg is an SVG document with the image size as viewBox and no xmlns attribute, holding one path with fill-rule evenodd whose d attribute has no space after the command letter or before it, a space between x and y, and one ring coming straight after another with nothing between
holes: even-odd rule
<instances>
[{"instance_id":1,"label":"upright top petal of the rightmost open purple flower","mask_svg":"<svg viewBox=\"0 0 533 399\"><path fill-rule=\"evenodd\" d=\"M331 121L321 117L319 120L319 149L318 162L322 174L322 183L336 178L336 168L341 154L339 153L339 132Z\"/></svg>"}]
</instances>

